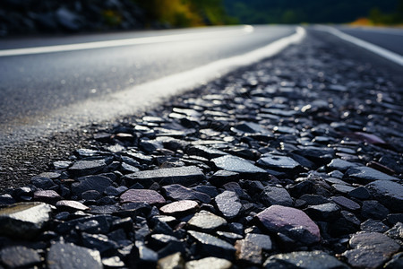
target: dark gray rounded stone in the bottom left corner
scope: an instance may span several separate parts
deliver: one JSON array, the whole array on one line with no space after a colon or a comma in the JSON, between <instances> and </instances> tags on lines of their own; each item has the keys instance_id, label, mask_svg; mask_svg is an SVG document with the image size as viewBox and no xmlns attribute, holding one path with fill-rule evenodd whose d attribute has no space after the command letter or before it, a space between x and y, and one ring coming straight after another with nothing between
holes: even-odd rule
<instances>
[{"instance_id":1,"label":"dark gray rounded stone in the bottom left corner","mask_svg":"<svg viewBox=\"0 0 403 269\"><path fill-rule=\"evenodd\" d=\"M38 252L22 246L4 247L0 250L0 262L7 268L34 267L42 262Z\"/></svg>"}]
</instances>

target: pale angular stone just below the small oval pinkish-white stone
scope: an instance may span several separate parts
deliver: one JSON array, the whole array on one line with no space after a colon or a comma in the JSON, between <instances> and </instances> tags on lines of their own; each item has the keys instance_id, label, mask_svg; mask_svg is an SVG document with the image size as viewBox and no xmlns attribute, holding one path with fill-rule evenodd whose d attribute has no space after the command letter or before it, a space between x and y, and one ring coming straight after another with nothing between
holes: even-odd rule
<instances>
[{"instance_id":1,"label":"pale angular stone just below the small oval pinkish-white stone","mask_svg":"<svg viewBox=\"0 0 403 269\"><path fill-rule=\"evenodd\" d=\"M213 213L201 210L201 212L196 213L192 219L187 221L187 224L190 229L210 232L226 225L227 221Z\"/></svg>"}]
</instances>

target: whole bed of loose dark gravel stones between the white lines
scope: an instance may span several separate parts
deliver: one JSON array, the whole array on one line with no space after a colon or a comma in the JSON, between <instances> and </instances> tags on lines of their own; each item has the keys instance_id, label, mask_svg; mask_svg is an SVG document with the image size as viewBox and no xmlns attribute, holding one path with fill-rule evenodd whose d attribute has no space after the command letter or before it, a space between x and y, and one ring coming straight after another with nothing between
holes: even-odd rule
<instances>
[{"instance_id":1,"label":"whole bed of loose dark gravel stones between the white lines","mask_svg":"<svg viewBox=\"0 0 403 269\"><path fill-rule=\"evenodd\" d=\"M0 268L401 268L402 84L320 37L4 189Z\"/></svg>"}]
</instances>

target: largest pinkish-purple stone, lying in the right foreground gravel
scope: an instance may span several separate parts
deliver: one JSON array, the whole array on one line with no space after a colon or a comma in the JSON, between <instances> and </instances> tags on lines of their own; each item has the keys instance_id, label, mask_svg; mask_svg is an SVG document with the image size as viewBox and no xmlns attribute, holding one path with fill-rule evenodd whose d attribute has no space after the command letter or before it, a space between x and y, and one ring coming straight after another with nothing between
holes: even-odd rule
<instances>
[{"instance_id":1,"label":"largest pinkish-purple stone, lying in the right foreground gravel","mask_svg":"<svg viewBox=\"0 0 403 269\"><path fill-rule=\"evenodd\" d=\"M262 225L270 232L280 232L287 237L301 243L311 245L321 240L319 227L303 211L282 206L271 205L261 213L257 218ZM302 232L296 232L300 230Z\"/></svg>"}]
</instances>

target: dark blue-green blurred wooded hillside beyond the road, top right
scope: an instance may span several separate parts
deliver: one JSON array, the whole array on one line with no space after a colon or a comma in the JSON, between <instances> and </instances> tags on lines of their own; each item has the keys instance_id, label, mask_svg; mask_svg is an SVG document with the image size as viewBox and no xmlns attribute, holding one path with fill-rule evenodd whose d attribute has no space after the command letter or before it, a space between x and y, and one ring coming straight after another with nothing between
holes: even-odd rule
<instances>
[{"instance_id":1,"label":"dark blue-green blurred wooded hillside beyond the road, top right","mask_svg":"<svg viewBox=\"0 0 403 269\"><path fill-rule=\"evenodd\" d=\"M402 0L224 0L227 14L241 23L353 22L401 20ZM398 6L399 4L399 10ZM398 15L399 13L399 15ZM400 19L399 19L400 18Z\"/></svg>"}]
</instances>

